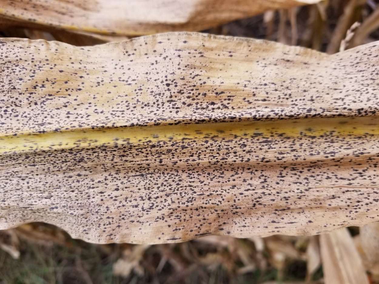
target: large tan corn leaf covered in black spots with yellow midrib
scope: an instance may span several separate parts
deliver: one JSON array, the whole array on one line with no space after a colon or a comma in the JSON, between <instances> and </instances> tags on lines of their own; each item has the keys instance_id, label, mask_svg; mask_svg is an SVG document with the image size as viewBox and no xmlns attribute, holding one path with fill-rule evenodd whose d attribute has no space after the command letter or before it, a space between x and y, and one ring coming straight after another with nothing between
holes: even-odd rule
<instances>
[{"instance_id":1,"label":"large tan corn leaf covered in black spots with yellow midrib","mask_svg":"<svg viewBox=\"0 0 379 284\"><path fill-rule=\"evenodd\" d=\"M377 42L2 39L0 229L163 243L379 220L378 61Z\"/></svg>"}]
</instances>

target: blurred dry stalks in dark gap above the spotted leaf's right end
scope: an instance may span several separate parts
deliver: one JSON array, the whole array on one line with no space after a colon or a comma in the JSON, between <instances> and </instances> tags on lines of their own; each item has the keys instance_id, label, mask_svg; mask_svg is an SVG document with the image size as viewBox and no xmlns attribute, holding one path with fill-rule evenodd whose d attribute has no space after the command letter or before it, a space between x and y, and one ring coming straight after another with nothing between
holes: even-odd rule
<instances>
[{"instance_id":1,"label":"blurred dry stalks in dark gap above the spotted leaf's right end","mask_svg":"<svg viewBox=\"0 0 379 284\"><path fill-rule=\"evenodd\" d=\"M301 45L329 54L338 52L341 41L353 23L362 23L363 29L355 33L346 48L377 41L379 2L365 0L330 0L314 5L266 11L264 15L237 20L210 33L270 39L285 44Z\"/></svg>"}]
</instances>

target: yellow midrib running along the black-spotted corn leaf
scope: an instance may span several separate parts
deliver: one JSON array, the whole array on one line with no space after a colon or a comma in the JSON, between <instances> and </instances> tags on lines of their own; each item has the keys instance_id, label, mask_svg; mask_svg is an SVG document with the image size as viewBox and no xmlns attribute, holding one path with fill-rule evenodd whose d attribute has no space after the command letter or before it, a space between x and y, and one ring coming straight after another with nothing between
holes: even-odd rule
<instances>
[{"instance_id":1,"label":"yellow midrib running along the black-spotted corn leaf","mask_svg":"<svg viewBox=\"0 0 379 284\"><path fill-rule=\"evenodd\" d=\"M46 133L0 136L0 153L79 149L107 145L143 144L191 140L202 144L205 139L234 139L241 136L331 137L379 135L379 117L327 117L237 122L208 122L127 126L117 128L84 128Z\"/></svg>"}]
</instances>

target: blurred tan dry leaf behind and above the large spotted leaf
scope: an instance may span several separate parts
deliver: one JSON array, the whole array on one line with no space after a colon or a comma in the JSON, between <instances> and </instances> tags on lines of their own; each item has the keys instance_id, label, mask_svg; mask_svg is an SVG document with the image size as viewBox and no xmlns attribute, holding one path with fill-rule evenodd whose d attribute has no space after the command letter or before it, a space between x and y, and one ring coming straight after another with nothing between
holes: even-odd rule
<instances>
[{"instance_id":1,"label":"blurred tan dry leaf behind and above the large spotted leaf","mask_svg":"<svg viewBox=\"0 0 379 284\"><path fill-rule=\"evenodd\" d=\"M2 0L0 17L94 33L141 35L199 31L271 9L320 0ZM15 23L14 23L15 24Z\"/></svg>"}]
</instances>

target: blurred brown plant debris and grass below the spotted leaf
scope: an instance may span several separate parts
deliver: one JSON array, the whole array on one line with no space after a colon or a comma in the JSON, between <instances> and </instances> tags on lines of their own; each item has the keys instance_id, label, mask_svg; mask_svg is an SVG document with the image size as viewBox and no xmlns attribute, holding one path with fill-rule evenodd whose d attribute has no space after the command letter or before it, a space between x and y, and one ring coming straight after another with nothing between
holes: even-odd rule
<instances>
[{"instance_id":1,"label":"blurred brown plant debris and grass below the spotted leaf","mask_svg":"<svg viewBox=\"0 0 379 284\"><path fill-rule=\"evenodd\" d=\"M163 245L95 245L70 239L66 233L48 224L31 223L26 229L34 235L45 234L50 241L29 238L20 228L0 231L19 238L21 251L16 261L0 250L0 279L6 283L266 283L278 280L279 272L271 259L283 251L284 278L280 283L299 283L305 277L305 262L294 259L287 250L265 247L266 238L253 243L227 236L205 236L194 241ZM56 236L66 236L63 245ZM296 238L270 237L281 244L299 248ZM305 240L308 237L303 237ZM63 240L60 238L60 240ZM260 243L259 241L259 243ZM53 242L53 244L51 244ZM8 242L9 243L9 242ZM263 254L263 257L262 257ZM267 261L269 259L269 262ZM31 279L31 280L30 280ZM55 279L55 280L51 280ZM312 284L323 283L318 273ZM304 282L303 282L304 283Z\"/></svg>"}]
</instances>

